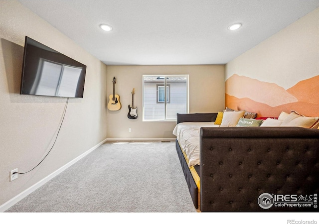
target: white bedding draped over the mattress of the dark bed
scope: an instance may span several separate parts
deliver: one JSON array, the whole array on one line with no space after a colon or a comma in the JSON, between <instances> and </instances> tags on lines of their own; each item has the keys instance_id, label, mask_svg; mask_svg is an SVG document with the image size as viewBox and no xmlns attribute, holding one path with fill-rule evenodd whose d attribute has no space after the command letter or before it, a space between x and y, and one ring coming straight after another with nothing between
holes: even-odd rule
<instances>
[{"instance_id":1,"label":"white bedding draped over the mattress of the dark bed","mask_svg":"<svg viewBox=\"0 0 319 224\"><path fill-rule=\"evenodd\" d=\"M180 147L187 155L188 166L199 165L199 131L200 127L218 127L215 122L181 122L178 123L173 134L180 144Z\"/></svg>"}]
</instances>

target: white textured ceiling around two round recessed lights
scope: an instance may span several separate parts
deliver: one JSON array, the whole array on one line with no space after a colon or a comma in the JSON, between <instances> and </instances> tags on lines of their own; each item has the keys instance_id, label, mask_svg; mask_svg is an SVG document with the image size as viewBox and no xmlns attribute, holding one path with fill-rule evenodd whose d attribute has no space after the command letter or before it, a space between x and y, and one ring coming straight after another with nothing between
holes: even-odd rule
<instances>
[{"instance_id":1,"label":"white textured ceiling around two round recessed lights","mask_svg":"<svg viewBox=\"0 0 319 224\"><path fill-rule=\"evenodd\" d=\"M226 64L319 7L319 0L19 2L107 65ZM229 31L236 22L242 27Z\"/></svg>"}]
</instances>

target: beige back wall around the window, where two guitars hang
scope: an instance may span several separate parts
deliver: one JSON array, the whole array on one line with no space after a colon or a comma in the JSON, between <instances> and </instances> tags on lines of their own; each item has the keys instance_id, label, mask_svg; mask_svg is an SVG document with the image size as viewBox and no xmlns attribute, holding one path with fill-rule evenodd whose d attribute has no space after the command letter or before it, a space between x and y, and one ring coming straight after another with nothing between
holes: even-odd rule
<instances>
[{"instance_id":1,"label":"beige back wall around the window, where two guitars hang","mask_svg":"<svg viewBox=\"0 0 319 224\"><path fill-rule=\"evenodd\" d=\"M143 121L143 75L189 75L189 112L218 112L224 109L224 65L154 65L107 66L107 94L113 94L113 77L116 77L115 93L122 105L119 111L109 111L106 126L108 138L173 138L176 122ZM137 119L129 119L128 105L138 108ZM107 102L109 97L107 97ZM128 129L132 128L132 132Z\"/></svg>"}]
</instances>

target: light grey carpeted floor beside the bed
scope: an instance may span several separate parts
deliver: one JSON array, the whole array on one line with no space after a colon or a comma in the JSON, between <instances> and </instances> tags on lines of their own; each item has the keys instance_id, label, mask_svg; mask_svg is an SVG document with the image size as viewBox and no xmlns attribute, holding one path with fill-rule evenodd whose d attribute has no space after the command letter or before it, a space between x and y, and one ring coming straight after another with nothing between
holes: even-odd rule
<instances>
[{"instance_id":1,"label":"light grey carpeted floor beside the bed","mask_svg":"<svg viewBox=\"0 0 319 224\"><path fill-rule=\"evenodd\" d=\"M5 212L196 212L174 142L107 142Z\"/></svg>"}]
</instances>

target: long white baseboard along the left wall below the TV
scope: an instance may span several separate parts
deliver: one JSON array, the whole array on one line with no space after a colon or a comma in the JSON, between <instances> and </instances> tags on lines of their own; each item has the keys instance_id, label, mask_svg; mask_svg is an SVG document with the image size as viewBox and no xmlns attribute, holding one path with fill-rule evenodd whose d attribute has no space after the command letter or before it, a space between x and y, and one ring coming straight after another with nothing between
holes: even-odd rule
<instances>
[{"instance_id":1,"label":"long white baseboard along the left wall below the TV","mask_svg":"<svg viewBox=\"0 0 319 224\"><path fill-rule=\"evenodd\" d=\"M19 202L20 200L25 198L27 195L31 194L33 191L35 191L36 189L41 187L43 184L45 184L46 182L48 182L49 180L51 180L52 178L54 178L55 176L57 176L58 174L60 174L64 170L66 170L67 168L69 168L70 166L72 166L74 163L76 163L77 161L82 159L84 156L86 156L87 154L89 154L90 152L92 152L93 150L98 148L100 145L102 145L106 141L107 141L107 139L104 139L103 141L101 141L97 145L95 145L92 148L90 148L88 151L86 151L83 154L79 155L78 157L76 157L72 161L68 162L67 164L65 164L64 166L62 166L58 170L54 171L53 173L49 174L48 176L46 176L45 178L43 178L39 182L37 182L34 185L32 185L31 187L29 187L28 189L24 190L23 192L21 192L20 194L16 195L15 197L10 199L9 201L7 201L4 204L0 205L0 212L2 213L5 210L9 209L11 206L13 206L17 202Z\"/></svg>"}]
</instances>

